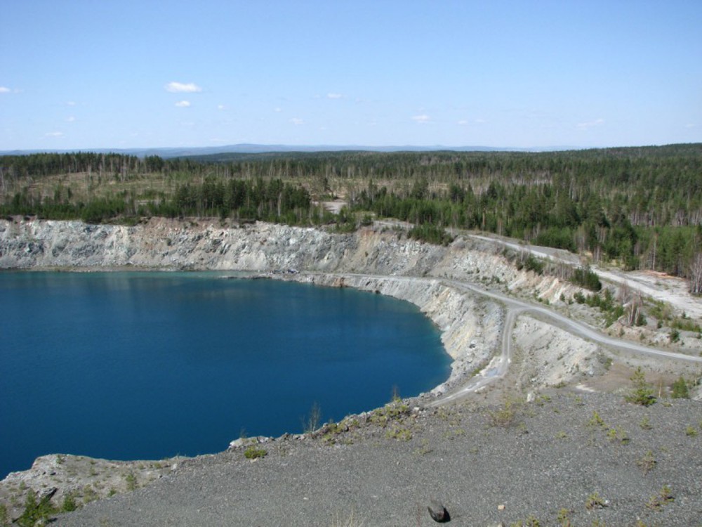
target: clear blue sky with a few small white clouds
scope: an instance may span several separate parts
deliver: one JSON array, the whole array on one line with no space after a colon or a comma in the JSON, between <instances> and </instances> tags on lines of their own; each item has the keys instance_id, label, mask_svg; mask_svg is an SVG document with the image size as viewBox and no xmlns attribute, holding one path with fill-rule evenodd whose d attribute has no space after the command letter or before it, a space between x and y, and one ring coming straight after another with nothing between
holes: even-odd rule
<instances>
[{"instance_id":1,"label":"clear blue sky with a few small white clouds","mask_svg":"<svg viewBox=\"0 0 702 527\"><path fill-rule=\"evenodd\" d=\"M702 1L6 0L0 150L702 141Z\"/></svg>"}]
</instances>

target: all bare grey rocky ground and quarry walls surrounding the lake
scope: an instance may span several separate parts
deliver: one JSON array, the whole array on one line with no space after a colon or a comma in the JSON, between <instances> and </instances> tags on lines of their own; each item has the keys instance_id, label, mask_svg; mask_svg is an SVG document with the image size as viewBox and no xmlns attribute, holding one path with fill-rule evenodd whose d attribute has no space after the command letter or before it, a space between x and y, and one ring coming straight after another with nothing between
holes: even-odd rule
<instances>
[{"instance_id":1,"label":"all bare grey rocky ground and quarry walls surrounding the lake","mask_svg":"<svg viewBox=\"0 0 702 527\"><path fill-rule=\"evenodd\" d=\"M70 526L421 526L433 523L432 499L465 526L702 526L701 403L669 398L680 375L702 377L694 361L698 333L680 331L673 342L650 317L642 327L617 321L604 328L597 310L572 301L582 289L518 270L521 250L470 234L449 247L425 245L387 222L336 235L217 220L152 219L135 227L0 220L0 268L230 269L357 287L418 305L442 329L454 359L451 378L432 393L312 436L237 443L192 460L41 457L0 482L0 512L17 518L32 490L40 499L51 495L57 508L87 503L55 516ZM577 264L556 250L538 255ZM683 320L700 322L698 299L668 277L600 272L615 294L624 282L640 284ZM578 337L538 309L525 311L524 301L692 360ZM510 309L504 377L436 406L504 351ZM649 408L625 402L637 367L658 396ZM693 398L701 395L691 387Z\"/></svg>"}]
</instances>

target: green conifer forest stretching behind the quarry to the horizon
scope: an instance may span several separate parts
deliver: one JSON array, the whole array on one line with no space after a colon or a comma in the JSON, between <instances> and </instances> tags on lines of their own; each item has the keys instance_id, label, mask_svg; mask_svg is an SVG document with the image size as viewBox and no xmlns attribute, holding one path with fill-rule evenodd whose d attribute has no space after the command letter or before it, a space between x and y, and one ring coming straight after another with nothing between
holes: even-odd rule
<instances>
[{"instance_id":1,"label":"green conifer forest stretching behind the quarry to the horizon","mask_svg":"<svg viewBox=\"0 0 702 527\"><path fill-rule=\"evenodd\" d=\"M341 197L338 216L321 202ZM6 216L219 216L348 231L372 219L448 243L480 230L691 278L702 266L702 143L563 152L271 152L164 160L0 157Z\"/></svg>"}]
</instances>

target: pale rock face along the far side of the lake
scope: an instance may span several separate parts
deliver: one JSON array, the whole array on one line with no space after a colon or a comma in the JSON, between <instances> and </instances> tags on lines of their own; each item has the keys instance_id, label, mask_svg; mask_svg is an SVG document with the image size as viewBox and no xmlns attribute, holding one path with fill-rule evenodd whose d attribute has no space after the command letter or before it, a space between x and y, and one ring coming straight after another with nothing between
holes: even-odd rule
<instances>
[{"instance_id":1,"label":"pale rock face along the far side of the lake","mask_svg":"<svg viewBox=\"0 0 702 527\"><path fill-rule=\"evenodd\" d=\"M138 226L0 220L0 268L145 268L483 275L512 281L501 256L458 240L450 247L366 228L348 235L270 223L151 219ZM440 273L440 274L439 274ZM523 273L519 273L520 275ZM524 276L519 277L524 280Z\"/></svg>"}]
</instances>

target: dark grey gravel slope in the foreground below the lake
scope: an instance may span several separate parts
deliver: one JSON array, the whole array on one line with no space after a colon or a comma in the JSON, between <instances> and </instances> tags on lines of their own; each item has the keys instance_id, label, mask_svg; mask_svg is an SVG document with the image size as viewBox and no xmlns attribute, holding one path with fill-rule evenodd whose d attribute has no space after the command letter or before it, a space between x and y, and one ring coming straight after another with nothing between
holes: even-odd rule
<instances>
[{"instance_id":1,"label":"dark grey gravel slope in the foreground below the lake","mask_svg":"<svg viewBox=\"0 0 702 527\"><path fill-rule=\"evenodd\" d=\"M260 445L267 456L256 461L244 447L188 460L55 525L430 526L437 498L461 526L568 524L563 515L573 526L702 526L700 403L644 408L566 389L531 403L484 397L410 408L385 427L362 415L329 434L333 444L322 433L284 436Z\"/></svg>"}]
</instances>

